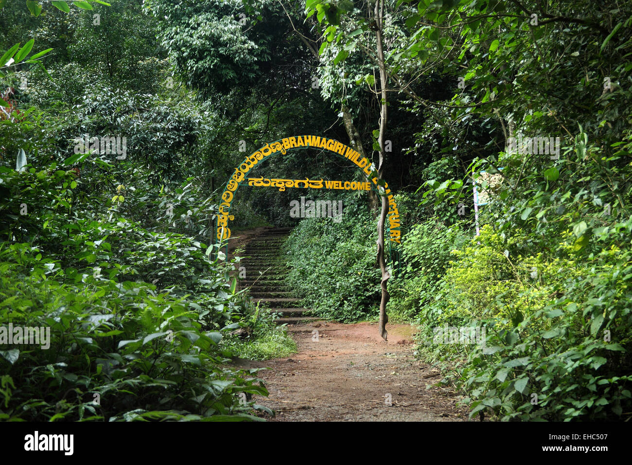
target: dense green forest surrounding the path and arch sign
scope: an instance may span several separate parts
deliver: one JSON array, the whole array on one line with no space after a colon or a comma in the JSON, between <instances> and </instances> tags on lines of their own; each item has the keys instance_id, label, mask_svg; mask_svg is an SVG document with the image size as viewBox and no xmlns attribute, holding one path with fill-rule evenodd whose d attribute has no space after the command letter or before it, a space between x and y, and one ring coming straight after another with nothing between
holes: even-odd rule
<instances>
[{"instance_id":1,"label":"dense green forest surrounding the path and arch sign","mask_svg":"<svg viewBox=\"0 0 632 465\"><path fill-rule=\"evenodd\" d=\"M630 419L632 3L0 0L0 30L1 420L273 418L233 361L301 346L258 292L413 325L465 418ZM246 177L372 189L246 180L218 237L244 160L304 135L367 170ZM224 246L264 226L260 291Z\"/></svg>"}]
</instances>

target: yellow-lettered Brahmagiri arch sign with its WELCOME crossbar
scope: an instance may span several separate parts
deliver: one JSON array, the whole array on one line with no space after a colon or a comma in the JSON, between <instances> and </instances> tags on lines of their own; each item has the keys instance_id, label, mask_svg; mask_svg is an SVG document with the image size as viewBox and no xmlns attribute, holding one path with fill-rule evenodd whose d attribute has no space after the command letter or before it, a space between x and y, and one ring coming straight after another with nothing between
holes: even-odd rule
<instances>
[{"instance_id":1,"label":"yellow-lettered Brahmagiri arch sign with its WELCOME crossbar","mask_svg":"<svg viewBox=\"0 0 632 465\"><path fill-rule=\"evenodd\" d=\"M276 140L272 144L265 144L264 147L258 149L252 155L246 157L243 163L235 169L233 176L226 183L226 189L222 194L222 201L219 204L219 212L217 214L217 229L216 237L219 240L229 239L231 237L231 230L228 227L228 221L234 220L234 216L230 214L231 204L233 203L235 192L240 185L249 186L262 186L262 187L277 187L283 191L286 188L302 187L304 189L341 189L341 190L370 190L370 182L349 182L349 181L325 181L310 180L305 178L304 180L293 179L265 179L260 178L246 178L248 172L252 168L264 161L271 155L283 154L285 155L292 149L306 149L312 147L314 149L324 149L330 154L349 159L358 166L364 173L367 179L375 172L375 166L368 161L367 158L362 157L360 153L344 145L342 142L338 142L334 139L327 139L325 137L318 137L315 135L299 135L295 137L286 137L285 139ZM247 180L247 183L246 183ZM372 178L376 189L382 182L379 182L377 177ZM399 223L399 211L397 204L391 194L391 189L388 188L388 184L384 182L384 194L388 196L389 200L389 237L390 244L401 244L401 229Z\"/></svg>"}]
</instances>

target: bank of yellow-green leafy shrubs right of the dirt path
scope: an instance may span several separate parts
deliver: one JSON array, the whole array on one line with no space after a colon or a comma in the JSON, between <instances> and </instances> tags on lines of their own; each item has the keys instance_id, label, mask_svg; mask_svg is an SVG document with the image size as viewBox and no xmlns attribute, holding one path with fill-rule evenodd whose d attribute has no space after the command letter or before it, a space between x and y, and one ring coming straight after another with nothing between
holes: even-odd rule
<instances>
[{"instance_id":1,"label":"bank of yellow-green leafy shrubs right of the dirt path","mask_svg":"<svg viewBox=\"0 0 632 465\"><path fill-rule=\"evenodd\" d=\"M614 146L600 157L580 133L556 162L506 156L507 182L523 175L531 189L496 197L481 235L454 252L423 311L420 350L454 369L448 378L472 415L594 420L629 411L632 145L628 137ZM485 328L485 343L441 344L433 334L444 325Z\"/></svg>"}]
</instances>

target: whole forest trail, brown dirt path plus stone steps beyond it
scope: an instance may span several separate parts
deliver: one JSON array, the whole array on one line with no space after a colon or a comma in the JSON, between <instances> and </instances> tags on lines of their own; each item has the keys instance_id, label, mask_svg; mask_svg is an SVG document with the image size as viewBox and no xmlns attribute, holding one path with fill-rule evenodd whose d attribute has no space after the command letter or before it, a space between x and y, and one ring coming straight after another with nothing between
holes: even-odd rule
<instances>
[{"instance_id":1,"label":"whole forest trail, brown dirt path plus stone steps beyond it","mask_svg":"<svg viewBox=\"0 0 632 465\"><path fill-rule=\"evenodd\" d=\"M257 403L276 416L269 421L463 421L456 396L430 387L441 379L437 369L413 356L413 327L388 325L384 341L377 323L343 324L305 316L300 299L284 288L287 274L279 248L289 228L259 228L245 240L246 279L253 299L281 313L298 352L290 357L255 362L269 397Z\"/></svg>"}]
</instances>

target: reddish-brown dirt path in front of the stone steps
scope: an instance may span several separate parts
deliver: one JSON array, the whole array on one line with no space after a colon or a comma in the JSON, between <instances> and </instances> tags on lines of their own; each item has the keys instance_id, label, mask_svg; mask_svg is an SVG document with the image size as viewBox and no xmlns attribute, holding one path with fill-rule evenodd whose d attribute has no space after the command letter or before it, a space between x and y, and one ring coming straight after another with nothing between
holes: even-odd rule
<instances>
[{"instance_id":1,"label":"reddish-brown dirt path in front of the stone steps","mask_svg":"<svg viewBox=\"0 0 632 465\"><path fill-rule=\"evenodd\" d=\"M257 399L277 412L269 421L466 420L451 392L426 389L440 377L413 357L411 326L388 331L385 342L370 323L288 326L298 353L257 363L270 368L259 373L270 395Z\"/></svg>"}]
</instances>

